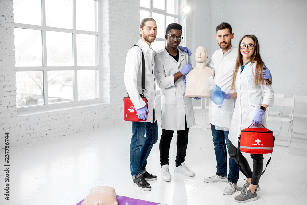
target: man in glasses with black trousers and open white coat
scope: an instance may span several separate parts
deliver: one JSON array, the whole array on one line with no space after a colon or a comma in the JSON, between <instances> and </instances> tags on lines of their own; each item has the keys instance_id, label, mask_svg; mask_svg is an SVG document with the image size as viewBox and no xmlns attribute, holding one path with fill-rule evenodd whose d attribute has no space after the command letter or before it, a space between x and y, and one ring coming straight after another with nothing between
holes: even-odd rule
<instances>
[{"instance_id":1,"label":"man in glasses with black trousers and open white coat","mask_svg":"<svg viewBox=\"0 0 307 205\"><path fill-rule=\"evenodd\" d=\"M184 163L188 145L189 128L195 125L191 98L185 96L185 75L192 70L188 53L177 47L181 42L182 26L169 24L165 31L167 45L155 56L154 76L161 88L160 164L161 177L171 181L169 172L169 148L173 133L177 130L177 155L175 172L194 176Z\"/></svg>"}]
</instances>

